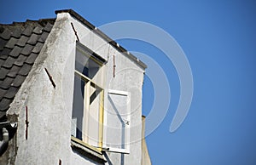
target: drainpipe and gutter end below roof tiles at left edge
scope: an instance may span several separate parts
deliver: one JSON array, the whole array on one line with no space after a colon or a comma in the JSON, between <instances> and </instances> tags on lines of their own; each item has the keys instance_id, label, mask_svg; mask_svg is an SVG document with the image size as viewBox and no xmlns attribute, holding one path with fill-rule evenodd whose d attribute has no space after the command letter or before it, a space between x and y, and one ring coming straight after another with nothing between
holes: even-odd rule
<instances>
[{"instance_id":1,"label":"drainpipe and gutter end below roof tiles at left edge","mask_svg":"<svg viewBox=\"0 0 256 165\"><path fill-rule=\"evenodd\" d=\"M14 132L17 127L17 123L10 123L10 122L0 122L0 128L2 128L2 140L0 141L0 156L7 150L9 145L9 131ZM9 130L8 130L9 128Z\"/></svg>"}]
</instances>

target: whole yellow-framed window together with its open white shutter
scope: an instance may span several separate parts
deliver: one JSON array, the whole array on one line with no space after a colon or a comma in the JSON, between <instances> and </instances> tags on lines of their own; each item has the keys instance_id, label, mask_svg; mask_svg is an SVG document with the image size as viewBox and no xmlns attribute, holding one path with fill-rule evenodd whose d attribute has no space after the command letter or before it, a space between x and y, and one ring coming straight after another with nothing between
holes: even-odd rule
<instances>
[{"instance_id":1,"label":"whole yellow-framed window together with its open white shutter","mask_svg":"<svg viewBox=\"0 0 256 165\"><path fill-rule=\"evenodd\" d=\"M77 44L71 135L100 151L129 153L130 93L104 89L104 62Z\"/></svg>"}]
</instances>

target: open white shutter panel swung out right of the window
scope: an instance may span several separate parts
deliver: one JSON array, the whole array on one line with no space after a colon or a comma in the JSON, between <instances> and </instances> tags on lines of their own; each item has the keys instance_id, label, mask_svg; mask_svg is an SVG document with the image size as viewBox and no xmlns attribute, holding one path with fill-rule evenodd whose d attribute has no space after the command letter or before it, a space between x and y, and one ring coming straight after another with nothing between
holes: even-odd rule
<instances>
[{"instance_id":1,"label":"open white shutter panel swung out right of the window","mask_svg":"<svg viewBox=\"0 0 256 165\"><path fill-rule=\"evenodd\" d=\"M130 152L130 93L108 90L104 110L104 147L108 151Z\"/></svg>"}]
</instances>

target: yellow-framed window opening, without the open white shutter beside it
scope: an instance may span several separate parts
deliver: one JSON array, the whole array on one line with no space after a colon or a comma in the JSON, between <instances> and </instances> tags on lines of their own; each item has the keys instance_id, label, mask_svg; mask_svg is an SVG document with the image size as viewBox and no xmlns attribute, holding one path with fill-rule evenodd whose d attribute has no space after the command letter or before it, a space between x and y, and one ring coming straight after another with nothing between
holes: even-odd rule
<instances>
[{"instance_id":1,"label":"yellow-framed window opening, without the open white shutter beside it","mask_svg":"<svg viewBox=\"0 0 256 165\"><path fill-rule=\"evenodd\" d=\"M81 44L77 46L75 59L71 134L86 144L102 148L103 61Z\"/></svg>"}]
</instances>

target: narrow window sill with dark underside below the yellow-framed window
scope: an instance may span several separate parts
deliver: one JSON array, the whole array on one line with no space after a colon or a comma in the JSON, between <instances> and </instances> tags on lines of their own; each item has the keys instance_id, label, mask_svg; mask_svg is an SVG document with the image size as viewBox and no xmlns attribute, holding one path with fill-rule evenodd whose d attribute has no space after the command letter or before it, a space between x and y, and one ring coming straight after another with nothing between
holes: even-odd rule
<instances>
[{"instance_id":1,"label":"narrow window sill with dark underside below the yellow-framed window","mask_svg":"<svg viewBox=\"0 0 256 165\"><path fill-rule=\"evenodd\" d=\"M74 151L78 151L83 156L87 156L96 162L107 162L107 160L102 156L101 151L73 136L71 136L71 147Z\"/></svg>"}]
</instances>

